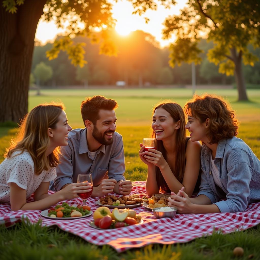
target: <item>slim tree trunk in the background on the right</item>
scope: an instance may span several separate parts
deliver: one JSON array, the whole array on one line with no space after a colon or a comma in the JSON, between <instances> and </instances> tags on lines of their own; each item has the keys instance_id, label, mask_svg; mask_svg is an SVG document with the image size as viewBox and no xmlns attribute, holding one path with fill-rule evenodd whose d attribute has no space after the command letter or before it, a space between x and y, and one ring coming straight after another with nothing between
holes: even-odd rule
<instances>
[{"instance_id":1,"label":"slim tree trunk in the background on the right","mask_svg":"<svg viewBox=\"0 0 260 260\"><path fill-rule=\"evenodd\" d=\"M239 54L236 54L236 49L231 49L231 54L233 62L235 63L235 79L237 83L238 90L238 101L248 101L245 88L245 78L242 70L242 51Z\"/></svg>"}]
</instances>

